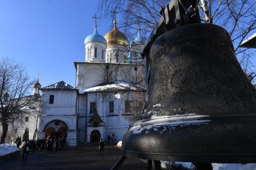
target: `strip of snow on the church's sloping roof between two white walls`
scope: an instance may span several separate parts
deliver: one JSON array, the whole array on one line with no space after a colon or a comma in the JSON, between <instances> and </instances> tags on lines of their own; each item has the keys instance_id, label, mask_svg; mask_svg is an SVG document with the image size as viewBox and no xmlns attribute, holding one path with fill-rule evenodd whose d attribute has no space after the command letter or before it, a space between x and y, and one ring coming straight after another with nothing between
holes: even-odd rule
<instances>
[{"instance_id":1,"label":"strip of snow on the church's sloping roof between two white walls","mask_svg":"<svg viewBox=\"0 0 256 170\"><path fill-rule=\"evenodd\" d=\"M112 91L112 90L145 90L145 87L138 85L138 84L133 84L131 82L126 82L126 81L113 81L108 84L99 84L97 86L85 89L85 90L80 90L79 93L84 94L84 93L94 93L94 92L104 92L104 91Z\"/></svg>"}]
</instances>

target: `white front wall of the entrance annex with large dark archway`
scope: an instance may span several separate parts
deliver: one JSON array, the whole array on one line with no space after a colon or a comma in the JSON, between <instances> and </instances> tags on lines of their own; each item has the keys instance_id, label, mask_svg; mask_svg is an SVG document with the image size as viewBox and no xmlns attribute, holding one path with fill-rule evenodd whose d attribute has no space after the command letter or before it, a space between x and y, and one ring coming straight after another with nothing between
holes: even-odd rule
<instances>
[{"instance_id":1,"label":"white front wall of the entrance annex with large dark archway","mask_svg":"<svg viewBox=\"0 0 256 170\"><path fill-rule=\"evenodd\" d=\"M60 120L68 126L67 145L75 146L77 139L76 90L42 90L42 110L39 116L38 138L45 137L47 124ZM54 95L53 104L49 104L49 96ZM58 126L49 124L50 128L58 130ZM49 127L47 126L47 127Z\"/></svg>"}]
</instances>

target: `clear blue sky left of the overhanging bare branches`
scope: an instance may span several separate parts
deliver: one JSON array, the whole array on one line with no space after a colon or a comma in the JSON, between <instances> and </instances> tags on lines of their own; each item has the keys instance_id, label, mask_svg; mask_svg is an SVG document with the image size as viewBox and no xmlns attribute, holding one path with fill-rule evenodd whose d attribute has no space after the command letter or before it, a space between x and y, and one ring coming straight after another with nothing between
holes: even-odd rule
<instances>
[{"instance_id":1,"label":"clear blue sky left of the overhanging bare branches","mask_svg":"<svg viewBox=\"0 0 256 170\"><path fill-rule=\"evenodd\" d=\"M94 31L98 1L0 0L0 58L26 66L42 86L64 80L75 86L73 62L84 62L84 39ZM98 32L109 31L106 22Z\"/></svg>"}]
</instances>

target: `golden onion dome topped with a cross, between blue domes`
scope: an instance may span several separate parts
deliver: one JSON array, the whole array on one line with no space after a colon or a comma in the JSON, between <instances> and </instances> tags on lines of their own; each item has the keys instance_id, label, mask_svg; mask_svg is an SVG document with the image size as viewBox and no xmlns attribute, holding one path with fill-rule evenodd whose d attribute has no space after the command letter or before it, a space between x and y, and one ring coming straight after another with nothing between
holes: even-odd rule
<instances>
[{"instance_id":1,"label":"golden onion dome topped with a cross, between blue domes","mask_svg":"<svg viewBox=\"0 0 256 170\"><path fill-rule=\"evenodd\" d=\"M123 34L123 32L120 32L117 29L117 22L114 19L114 28L109 31L104 38L107 41L107 46L108 45L123 45L124 47L128 47L129 42L126 37L126 35Z\"/></svg>"}]
</instances>

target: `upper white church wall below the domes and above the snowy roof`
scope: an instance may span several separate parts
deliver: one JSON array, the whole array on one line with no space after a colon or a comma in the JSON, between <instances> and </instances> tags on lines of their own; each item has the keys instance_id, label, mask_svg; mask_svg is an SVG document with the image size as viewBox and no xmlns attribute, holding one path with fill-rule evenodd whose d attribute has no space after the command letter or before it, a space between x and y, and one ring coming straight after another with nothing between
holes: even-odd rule
<instances>
[{"instance_id":1,"label":"upper white church wall below the domes and above the snowy roof","mask_svg":"<svg viewBox=\"0 0 256 170\"><path fill-rule=\"evenodd\" d=\"M108 66L108 69L107 69ZM137 70L135 71L135 68ZM127 63L76 63L76 86L88 89L115 80L132 81L144 85L144 65Z\"/></svg>"}]
</instances>

